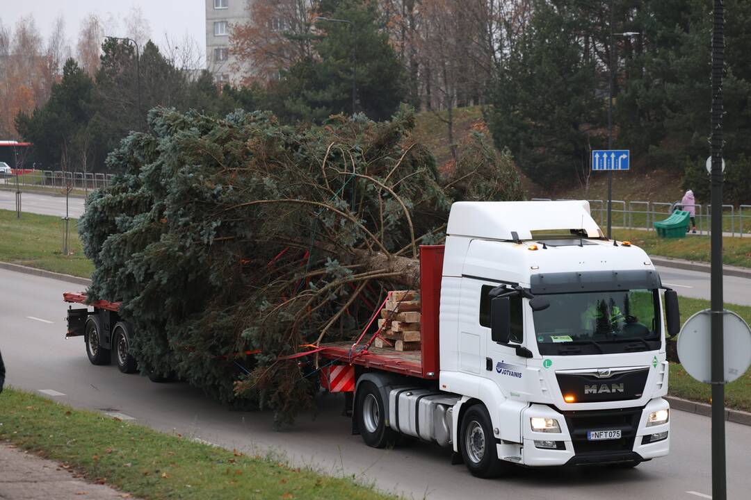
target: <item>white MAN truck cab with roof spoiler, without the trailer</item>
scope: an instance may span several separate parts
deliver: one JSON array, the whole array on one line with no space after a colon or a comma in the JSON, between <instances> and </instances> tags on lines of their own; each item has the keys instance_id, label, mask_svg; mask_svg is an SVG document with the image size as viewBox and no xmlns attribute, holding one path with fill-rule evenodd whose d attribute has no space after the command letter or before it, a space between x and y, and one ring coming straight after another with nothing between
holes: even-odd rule
<instances>
[{"instance_id":1,"label":"white MAN truck cab with roof spoiler, without the trailer","mask_svg":"<svg viewBox=\"0 0 751 500\"><path fill-rule=\"evenodd\" d=\"M603 238L579 201L458 202L447 233L439 388L483 403L497 458L632 465L667 454L661 283L644 250Z\"/></svg>"}]
</instances>

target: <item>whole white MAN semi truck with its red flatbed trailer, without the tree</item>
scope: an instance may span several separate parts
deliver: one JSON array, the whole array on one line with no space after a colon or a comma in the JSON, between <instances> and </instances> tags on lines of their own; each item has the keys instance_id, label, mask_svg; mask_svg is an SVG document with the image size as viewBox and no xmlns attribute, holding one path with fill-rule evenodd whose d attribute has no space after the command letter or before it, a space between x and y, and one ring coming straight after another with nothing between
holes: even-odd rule
<instances>
[{"instance_id":1,"label":"whole white MAN semi truck with its red flatbed trailer, without the tree","mask_svg":"<svg viewBox=\"0 0 751 500\"><path fill-rule=\"evenodd\" d=\"M351 376L338 386L354 390L353 430L367 445L435 442L479 477L668 454L677 295L643 250L602 235L587 202L454 203L445 245L421 247L420 275L420 351L358 342L318 353ZM68 336L84 335L90 359L112 347L132 371L118 304L89 306L69 311Z\"/></svg>"}]
</instances>

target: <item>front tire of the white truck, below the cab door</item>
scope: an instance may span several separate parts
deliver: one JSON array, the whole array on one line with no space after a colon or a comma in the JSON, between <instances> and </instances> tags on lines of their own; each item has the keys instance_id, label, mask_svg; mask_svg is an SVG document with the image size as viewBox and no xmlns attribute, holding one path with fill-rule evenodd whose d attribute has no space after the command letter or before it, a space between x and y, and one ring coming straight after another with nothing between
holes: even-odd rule
<instances>
[{"instance_id":1,"label":"front tire of the white truck, below the cab door","mask_svg":"<svg viewBox=\"0 0 751 500\"><path fill-rule=\"evenodd\" d=\"M470 406L461 422L459 448L466 468L477 478L497 478L508 472L496 452L490 415L483 405Z\"/></svg>"}]
</instances>

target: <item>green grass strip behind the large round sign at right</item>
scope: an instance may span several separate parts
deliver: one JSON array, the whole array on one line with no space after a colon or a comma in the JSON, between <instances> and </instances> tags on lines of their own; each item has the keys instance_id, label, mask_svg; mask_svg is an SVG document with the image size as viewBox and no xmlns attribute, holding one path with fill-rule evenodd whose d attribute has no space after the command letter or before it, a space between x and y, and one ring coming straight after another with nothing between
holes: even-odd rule
<instances>
[{"instance_id":1,"label":"green grass strip behind the large round sign at right","mask_svg":"<svg viewBox=\"0 0 751 500\"><path fill-rule=\"evenodd\" d=\"M686 322L694 313L703 309L709 309L710 302L698 298L679 298L680 321ZM746 323L751 323L751 307L726 304L726 309L737 313ZM700 403L710 402L711 388L693 379L683 367L677 363L670 364L670 377L668 379L668 393L671 396L683 397L686 400ZM725 406L732 409L751 412L751 370L746 371L735 382L725 385Z\"/></svg>"}]
</instances>

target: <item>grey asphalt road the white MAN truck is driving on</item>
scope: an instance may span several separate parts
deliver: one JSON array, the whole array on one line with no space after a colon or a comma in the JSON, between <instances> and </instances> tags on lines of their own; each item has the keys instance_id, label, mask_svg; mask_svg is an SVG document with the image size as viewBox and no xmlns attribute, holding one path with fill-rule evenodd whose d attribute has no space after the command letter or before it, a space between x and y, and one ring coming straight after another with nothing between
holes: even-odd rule
<instances>
[{"instance_id":1,"label":"grey asphalt road the white MAN truck is driving on","mask_svg":"<svg viewBox=\"0 0 751 500\"><path fill-rule=\"evenodd\" d=\"M416 499L709 498L708 418L673 412L671 454L636 469L517 469L511 478L484 481L464 466L451 466L451 454L437 446L367 448L360 436L349 434L338 397L321 397L317 413L301 415L293 427L275 432L269 412L231 412L184 383L154 384L143 376L122 375L115 366L95 367L86 358L82 337L64 339L67 307L62 292L77 288L0 270L0 349L9 384L227 448L270 450L297 465L355 475ZM747 498L751 427L726 426L728 498Z\"/></svg>"}]
</instances>

